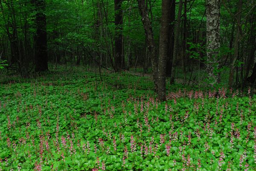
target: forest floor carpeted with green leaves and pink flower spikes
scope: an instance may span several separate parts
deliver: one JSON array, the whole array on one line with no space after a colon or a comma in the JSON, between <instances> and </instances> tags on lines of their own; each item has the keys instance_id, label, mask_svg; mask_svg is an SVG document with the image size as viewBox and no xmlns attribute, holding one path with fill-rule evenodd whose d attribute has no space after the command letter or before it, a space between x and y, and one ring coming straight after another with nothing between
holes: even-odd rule
<instances>
[{"instance_id":1,"label":"forest floor carpeted with green leaves and pink flower spikes","mask_svg":"<svg viewBox=\"0 0 256 171\"><path fill-rule=\"evenodd\" d=\"M128 72L8 79L0 171L256 170L253 90L177 84L160 102L149 76Z\"/></svg>"}]
</instances>

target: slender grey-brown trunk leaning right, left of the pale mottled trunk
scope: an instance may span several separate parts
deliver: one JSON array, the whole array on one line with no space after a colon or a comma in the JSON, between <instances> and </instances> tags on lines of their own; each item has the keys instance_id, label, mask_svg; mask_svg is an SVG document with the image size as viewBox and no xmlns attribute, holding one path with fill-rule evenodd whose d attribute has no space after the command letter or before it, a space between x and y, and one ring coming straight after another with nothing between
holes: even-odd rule
<instances>
[{"instance_id":1,"label":"slender grey-brown trunk leaning right, left of the pale mottled trunk","mask_svg":"<svg viewBox=\"0 0 256 171\"><path fill-rule=\"evenodd\" d=\"M172 72L171 72L170 84L174 84L175 68L177 67L177 58L178 58L177 52L178 52L178 42L179 42L178 39L180 34L180 18L181 18L182 5L183 5L183 0L180 0L177 21L175 23L175 36L174 36L174 48L173 48Z\"/></svg>"}]
</instances>

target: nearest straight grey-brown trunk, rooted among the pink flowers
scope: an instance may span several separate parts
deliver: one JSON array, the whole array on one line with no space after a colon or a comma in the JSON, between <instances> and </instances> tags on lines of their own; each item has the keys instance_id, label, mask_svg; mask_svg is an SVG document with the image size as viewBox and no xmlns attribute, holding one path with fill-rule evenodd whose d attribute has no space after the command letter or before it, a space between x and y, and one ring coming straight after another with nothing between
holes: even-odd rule
<instances>
[{"instance_id":1,"label":"nearest straight grey-brown trunk, rooted among the pink flowers","mask_svg":"<svg viewBox=\"0 0 256 171\"><path fill-rule=\"evenodd\" d=\"M168 38L170 26L170 0L162 0L162 17L159 39L159 61L158 61L158 91L157 97L161 101L166 100L166 59L168 53Z\"/></svg>"}]
</instances>

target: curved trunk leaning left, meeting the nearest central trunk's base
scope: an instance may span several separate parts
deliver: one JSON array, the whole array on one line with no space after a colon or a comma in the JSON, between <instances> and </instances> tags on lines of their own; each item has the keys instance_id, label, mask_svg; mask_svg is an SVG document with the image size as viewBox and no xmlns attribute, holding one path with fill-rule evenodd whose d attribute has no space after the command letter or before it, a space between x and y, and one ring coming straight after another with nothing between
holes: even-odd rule
<instances>
[{"instance_id":1,"label":"curved trunk leaning left, meeting the nearest central trunk's base","mask_svg":"<svg viewBox=\"0 0 256 171\"><path fill-rule=\"evenodd\" d=\"M151 59L152 69L153 69L153 80L154 80L154 86L155 91L157 91L157 56L156 56L156 47L154 44L154 35L152 31L152 26L148 17L148 12L145 6L145 0L137 0L139 9L140 9L140 15L142 17L142 23L143 27L145 29L145 34L147 38L147 44L148 44L148 53Z\"/></svg>"}]
</instances>

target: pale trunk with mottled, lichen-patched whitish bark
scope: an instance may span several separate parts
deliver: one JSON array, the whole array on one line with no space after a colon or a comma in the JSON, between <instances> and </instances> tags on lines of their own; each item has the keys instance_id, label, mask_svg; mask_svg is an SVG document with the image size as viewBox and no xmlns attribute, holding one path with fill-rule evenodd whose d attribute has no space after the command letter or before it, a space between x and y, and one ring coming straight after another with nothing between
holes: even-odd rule
<instances>
[{"instance_id":1,"label":"pale trunk with mottled, lichen-patched whitish bark","mask_svg":"<svg viewBox=\"0 0 256 171\"><path fill-rule=\"evenodd\" d=\"M220 0L207 0L207 72L209 84L217 83L218 77L214 69L218 68L218 51L220 48Z\"/></svg>"}]
</instances>

